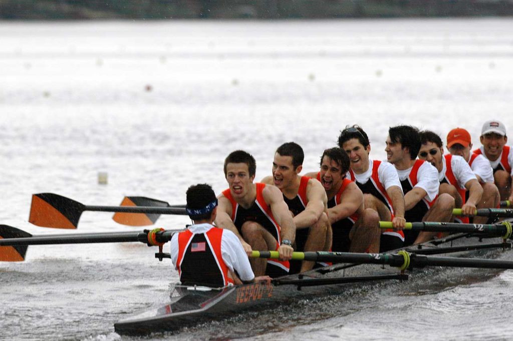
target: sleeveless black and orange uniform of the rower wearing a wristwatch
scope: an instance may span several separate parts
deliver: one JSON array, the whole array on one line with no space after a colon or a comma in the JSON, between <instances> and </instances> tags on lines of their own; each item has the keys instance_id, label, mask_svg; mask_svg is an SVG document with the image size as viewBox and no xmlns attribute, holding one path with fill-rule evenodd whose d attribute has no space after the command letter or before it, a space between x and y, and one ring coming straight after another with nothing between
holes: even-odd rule
<instances>
[{"instance_id":1,"label":"sleeveless black and orange uniform of the rower wearing a wristwatch","mask_svg":"<svg viewBox=\"0 0 513 341\"><path fill-rule=\"evenodd\" d=\"M255 222L261 225L276 239L276 248L274 250L278 250L282 240L281 227L276 222L276 219L274 219L271 208L265 202L264 195L262 194L266 185L255 183L255 186L257 189L257 197L253 205L248 209L243 208L235 201L231 195L230 189L223 191L223 195L231 202L231 220L241 234L242 225L246 222ZM290 264L288 260L267 260L266 274L271 277L285 275L289 272L289 269Z\"/></svg>"}]
</instances>

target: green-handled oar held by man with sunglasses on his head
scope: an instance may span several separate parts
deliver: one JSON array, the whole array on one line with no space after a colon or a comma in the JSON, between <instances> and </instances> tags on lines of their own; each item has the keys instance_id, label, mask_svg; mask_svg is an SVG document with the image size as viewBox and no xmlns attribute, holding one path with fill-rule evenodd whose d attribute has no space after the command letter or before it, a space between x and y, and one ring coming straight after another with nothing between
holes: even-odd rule
<instances>
[{"instance_id":1,"label":"green-handled oar held by man with sunglasses on his head","mask_svg":"<svg viewBox=\"0 0 513 341\"><path fill-rule=\"evenodd\" d=\"M392 229L391 222L380 222L380 228ZM453 233L479 233L502 237L507 239L511 236L511 223L501 222L499 224L458 224L421 222L406 223L405 230L428 231L428 232L453 232Z\"/></svg>"}]
</instances>

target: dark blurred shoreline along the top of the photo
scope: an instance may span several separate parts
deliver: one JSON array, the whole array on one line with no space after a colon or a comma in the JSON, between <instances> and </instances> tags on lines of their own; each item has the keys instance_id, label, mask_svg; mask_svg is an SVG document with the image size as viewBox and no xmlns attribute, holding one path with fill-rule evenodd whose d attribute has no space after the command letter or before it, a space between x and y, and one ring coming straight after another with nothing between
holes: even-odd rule
<instances>
[{"instance_id":1,"label":"dark blurred shoreline along the top of the photo","mask_svg":"<svg viewBox=\"0 0 513 341\"><path fill-rule=\"evenodd\" d=\"M513 0L0 0L0 20L513 16Z\"/></svg>"}]
</instances>

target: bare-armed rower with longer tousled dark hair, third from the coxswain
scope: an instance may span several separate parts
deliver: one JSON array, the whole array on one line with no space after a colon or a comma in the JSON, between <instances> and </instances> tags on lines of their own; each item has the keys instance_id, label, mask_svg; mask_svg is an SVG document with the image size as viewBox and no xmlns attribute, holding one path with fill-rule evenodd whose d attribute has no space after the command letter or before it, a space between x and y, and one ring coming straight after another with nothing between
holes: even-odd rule
<instances>
[{"instance_id":1,"label":"bare-armed rower with longer tousled dark hair, third from the coxswain","mask_svg":"<svg viewBox=\"0 0 513 341\"><path fill-rule=\"evenodd\" d=\"M380 249L379 215L366 209L363 193L346 178L349 156L341 148L326 149L321 170L306 174L317 178L328 197L328 218L333 231L331 250L377 253Z\"/></svg>"}]
</instances>

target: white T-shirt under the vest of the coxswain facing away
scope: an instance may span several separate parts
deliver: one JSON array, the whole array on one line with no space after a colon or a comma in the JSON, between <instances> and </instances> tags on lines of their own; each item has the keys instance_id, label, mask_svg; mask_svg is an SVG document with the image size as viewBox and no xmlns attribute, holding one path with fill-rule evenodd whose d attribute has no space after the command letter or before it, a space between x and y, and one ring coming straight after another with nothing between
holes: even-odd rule
<instances>
[{"instance_id":1,"label":"white T-shirt under the vest of the coxswain facing away","mask_svg":"<svg viewBox=\"0 0 513 341\"><path fill-rule=\"evenodd\" d=\"M198 224L189 226L188 229L193 234L206 233L213 225ZM221 238L221 256L231 271L237 271L239 278L244 281L254 279L253 270L249 264L248 255L244 251L239 238L230 230L223 230ZM178 233L171 238L171 260L176 267L178 260Z\"/></svg>"}]
</instances>

